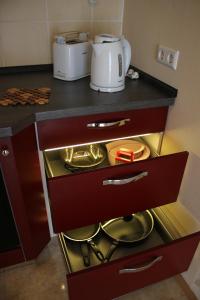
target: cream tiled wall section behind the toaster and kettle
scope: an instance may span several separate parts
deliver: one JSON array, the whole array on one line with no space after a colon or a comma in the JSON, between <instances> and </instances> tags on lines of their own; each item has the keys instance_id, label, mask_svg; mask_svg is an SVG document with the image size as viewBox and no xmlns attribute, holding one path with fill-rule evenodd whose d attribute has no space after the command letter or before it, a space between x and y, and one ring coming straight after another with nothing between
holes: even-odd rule
<instances>
[{"instance_id":1,"label":"cream tiled wall section behind the toaster and kettle","mask_svg":"<svg viewBox=\"0 0 200 300\"><path fill-rule=\"evenodd\" d=\"M124 0L0 0L0 67L51 63L53 36L120 34Z\"/></svg>"}]
</instances>

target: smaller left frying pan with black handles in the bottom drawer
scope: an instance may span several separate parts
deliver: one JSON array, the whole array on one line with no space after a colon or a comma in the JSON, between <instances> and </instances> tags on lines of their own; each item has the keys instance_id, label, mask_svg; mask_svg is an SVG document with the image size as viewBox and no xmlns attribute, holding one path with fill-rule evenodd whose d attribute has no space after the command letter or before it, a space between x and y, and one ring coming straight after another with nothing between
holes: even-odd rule
<instances>
[{"instance_id":1,"label":"smaller left frying pan with black handles in the bottom drawer","mask_svg":"<svg viewBox=\"0 0 200 300\"><path fill-rule=\"evenodd\" d=\"M100 261L104 261L103 253L98 249L93 242L93 238L99 233L101 229L100 224L90 225L78 229L73 229L64 233L64 236L74 242L80 242L81 253L83 256L83 262L85 266L90 265L89 247L92 248L96 257Z\"/></svg>"}]
</instances>

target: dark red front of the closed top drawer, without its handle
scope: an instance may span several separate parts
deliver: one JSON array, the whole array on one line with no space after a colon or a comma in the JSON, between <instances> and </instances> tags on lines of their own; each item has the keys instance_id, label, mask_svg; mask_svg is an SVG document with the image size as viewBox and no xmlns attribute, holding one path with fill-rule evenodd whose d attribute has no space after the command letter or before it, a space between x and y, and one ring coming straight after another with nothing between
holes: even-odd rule
<instances>
[{"instance_id":1,"label":"dark red front of the closed top drawer, without its handle","mask_svg":"<svg viewBox=\"0 0 200 300\"><path fill-rule=\"evenodd\" d=\"M123 136L161 132L165 129L168 107L41 121L37 123L40 149L75 145ZM130 119L123 126L88 128L90 123Z\"/></svg>"}]
</instances>

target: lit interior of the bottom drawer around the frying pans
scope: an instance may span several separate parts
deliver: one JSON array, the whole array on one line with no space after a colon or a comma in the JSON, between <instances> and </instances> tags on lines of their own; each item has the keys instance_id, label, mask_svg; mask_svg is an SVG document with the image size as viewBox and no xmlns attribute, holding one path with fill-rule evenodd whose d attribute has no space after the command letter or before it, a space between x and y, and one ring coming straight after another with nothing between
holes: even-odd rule
<instances>
[{"instance_id":1,"label":"lit interior of the bottom drawer around the frying pans","mask_svg":"<svg viewBox=\"0 0 200 300\"><path fill-rule=\"evenodd\" d=\"M111 262L125 256L153 249L157 246L170 244L200 230L200 224L193 219L190 213L179 202L152 209L151 213L154 217L154 229L149 237L131 246L119 245L110 259ZM80 252L80 243L69 241L62 233L59 235L59 239L69 273L102 264L96 258L93 251L90 251L91 265L85 267ZM93 240L103 254L106 254L112 245L111 240L105 237L101 231Z\"/></svg>"}]
</instances>

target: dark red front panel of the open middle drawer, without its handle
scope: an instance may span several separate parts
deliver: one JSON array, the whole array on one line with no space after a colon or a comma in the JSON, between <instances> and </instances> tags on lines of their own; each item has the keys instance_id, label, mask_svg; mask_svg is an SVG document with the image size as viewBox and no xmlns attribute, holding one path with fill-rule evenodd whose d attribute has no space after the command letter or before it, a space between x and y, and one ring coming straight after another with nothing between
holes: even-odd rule
<instances>
[{"instance_id":1,"label":"dark red front panel of the open middle drawer, without its handle","mask_svg":"<svg viewBox=\"0 0 200 300\"><path fill-rule=\"evenodd\" d=\"M55 232L153 208L177 199L187 152L67 175L49 180ZM103 185L111 178L148 175L124 185Z\"/></svg>"}]
</instances>

